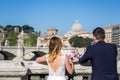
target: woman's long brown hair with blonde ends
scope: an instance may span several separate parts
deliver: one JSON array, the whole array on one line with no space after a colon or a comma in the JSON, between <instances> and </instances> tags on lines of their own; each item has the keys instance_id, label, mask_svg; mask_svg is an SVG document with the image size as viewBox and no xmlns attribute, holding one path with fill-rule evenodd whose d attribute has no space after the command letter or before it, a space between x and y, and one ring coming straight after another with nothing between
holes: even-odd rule
<instances>
[{"instance_id":1,"label":"woman's long brown hair with blonde ends","mask_svg":"<svg viewBox=\"0 0 120 80\"><path fill-rule=\"evenodd\" d=\"M53 62L56 59L57 55L59 55L61 51L61 48L62 42L60 38L52 37L49 43L49 57L48 57L49 63Z\"/></svg>"}]
</instances>

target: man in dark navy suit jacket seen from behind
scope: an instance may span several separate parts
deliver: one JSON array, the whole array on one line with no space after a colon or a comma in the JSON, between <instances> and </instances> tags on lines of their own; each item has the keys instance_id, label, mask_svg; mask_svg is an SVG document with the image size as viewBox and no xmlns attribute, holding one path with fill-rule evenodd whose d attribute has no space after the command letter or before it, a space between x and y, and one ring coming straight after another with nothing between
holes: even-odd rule
<instances>
[{"instance_id":1,"label":"man in dark navy suit jacket seen from behind","mask_svg":"<svg viewBox=\"0 0 120 80\"><path fill-rule=\"evenodd\" d=\"M94 45L88 46L79 59L80 64L90 60L92 80L119 80L117 74L117 47L105 43L105 31L98 27L93 30Z\"/></svg>"}]
</instances>

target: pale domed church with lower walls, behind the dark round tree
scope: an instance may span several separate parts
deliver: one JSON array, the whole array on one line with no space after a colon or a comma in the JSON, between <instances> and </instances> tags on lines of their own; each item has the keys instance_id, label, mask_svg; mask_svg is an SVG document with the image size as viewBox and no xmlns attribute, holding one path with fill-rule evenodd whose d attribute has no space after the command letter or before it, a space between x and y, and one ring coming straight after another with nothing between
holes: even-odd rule
<instances>
[{"instance_id":1,"label":"pale domed church with lower walls, behind the dark round tree","mask_svg":"<svg viewBox=\"0 0 120 80\"><path fill-rule=\"evenodd\" d=\"M64 35L63 46L70 47L69 39L74 36L86 38L86 37L91 37L91 33L84 31L82 25L79 23L78 20L76 20L75 23L72 25L71 30Z\"/></svg>"}]
</instances>

